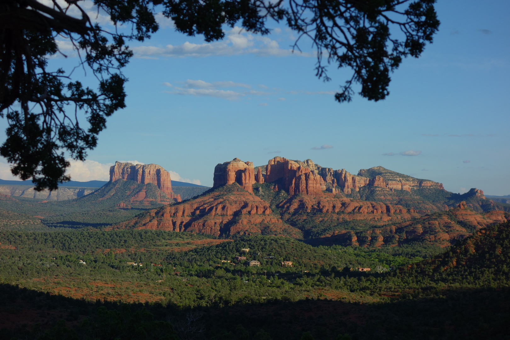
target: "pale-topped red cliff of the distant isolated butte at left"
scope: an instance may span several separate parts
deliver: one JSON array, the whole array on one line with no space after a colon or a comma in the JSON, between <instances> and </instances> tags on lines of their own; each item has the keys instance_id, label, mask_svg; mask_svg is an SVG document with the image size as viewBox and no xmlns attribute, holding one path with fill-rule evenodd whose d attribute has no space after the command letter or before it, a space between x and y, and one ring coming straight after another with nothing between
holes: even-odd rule
<instances>
[{"instance_id":1,"label":"pale-topped red cliff of the distant isolated butte at left","mask_svg":"<svg viewBox=\"0 0 510 340\"><path fill-rule=\"evenodd\" d=\"M140 184L152 183L170 199L181 202L181 196L172 192L170 173L157 164L131 164L115 162L110 167L110 181L117 179L134 180Z\"/></svg>"}]
</instances>

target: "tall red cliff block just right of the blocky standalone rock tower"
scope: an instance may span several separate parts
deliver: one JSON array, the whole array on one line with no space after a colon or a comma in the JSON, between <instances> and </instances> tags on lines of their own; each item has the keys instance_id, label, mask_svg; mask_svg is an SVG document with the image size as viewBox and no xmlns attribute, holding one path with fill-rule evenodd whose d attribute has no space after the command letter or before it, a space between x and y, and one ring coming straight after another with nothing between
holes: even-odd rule
<instances>
[{"instance_id":1,"label":"tall red cliff block just right of the blocky standalone rock tower","mask_svg":"<svg viewBox=\"0 0 510 340\"><path fill-rule=\"evenodd\" d=\"M312 160L299 163L276 156L266 166L265 181L281 182L283 189L290 195L321 195L326 186L322 177L316 173L315 164Z\"/></svg>"}]
</instances>

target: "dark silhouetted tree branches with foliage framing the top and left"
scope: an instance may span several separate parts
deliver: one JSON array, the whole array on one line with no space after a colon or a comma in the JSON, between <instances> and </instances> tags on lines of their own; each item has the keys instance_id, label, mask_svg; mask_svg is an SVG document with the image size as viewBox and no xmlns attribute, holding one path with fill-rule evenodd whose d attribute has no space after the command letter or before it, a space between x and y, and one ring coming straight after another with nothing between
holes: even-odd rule
<instances>
[{"instance_id":1,"label":"dark silhouetted tree branches with foliage framing the top and left","mask_svg":"<svg viewBox=\"0 0 510 340\"><path fill-rule=\"evenodd\" d=\"M329 64L352 69L335 96L339 102L352 99L354 84L361 85L363 97L384 99L390 73L403 58L419 57L439 28L435 0L94 0L115 30L94 23L84 2L51 0L47 6L38 0L4 0L0 5L0 115L9 123L0 154L14 164L14 175L32 178L37 190L54 190L69 180L64 152L85 160L107 117L125 107L121 69L133 55L126 43L158 30L155 6L161 5L177 31L203 34L206 41L222 39L224 25L241 22L245 30L264 35L270 32L268 19L284 21L298 33L295 48L302 37L312 39L319 78L330 80ZM124 29L117 30L121 24ZM78 66L97 78L97 90L72 81L72 70L47 68L48 58L61 53L57 40L77 49Z\"/></svg>"}]
</instances>

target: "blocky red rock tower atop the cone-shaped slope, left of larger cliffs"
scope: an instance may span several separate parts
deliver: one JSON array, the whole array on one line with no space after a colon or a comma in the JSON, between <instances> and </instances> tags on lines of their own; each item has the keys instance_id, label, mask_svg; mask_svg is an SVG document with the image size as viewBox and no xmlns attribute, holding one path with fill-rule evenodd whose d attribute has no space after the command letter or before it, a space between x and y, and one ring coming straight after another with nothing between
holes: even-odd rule
<instances>
[{"instance_id":1,"label":"blocky red rock tower atop the cone-shaped slope, left of larger cliffs","mask_svg":"<svg viewBox=\"0 0 510 340\"><path fill-rule=\"evenodd\" d=\"M247 192L253 193L252 184L255 183L255 171L252 162L243 162L238 158L214 167L213 188L237 182Z\"/></svg>"}]
</instances>

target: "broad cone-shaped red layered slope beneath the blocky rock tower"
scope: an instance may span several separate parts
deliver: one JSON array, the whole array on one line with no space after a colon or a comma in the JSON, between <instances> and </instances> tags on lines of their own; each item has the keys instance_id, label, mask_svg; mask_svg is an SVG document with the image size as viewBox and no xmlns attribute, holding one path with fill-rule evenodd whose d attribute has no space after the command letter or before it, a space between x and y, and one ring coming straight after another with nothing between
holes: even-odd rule
<instances>
[{"instance_id":1,"label":"broad cone-shaped red layered slope beneath the blocky rock tower","mask_svg":"<svg viewBox=\"0 0 510 340\"><path fill-rule=\"evenodd\" d=\"M166 205L119 224L119 228L188 231L228 236L271 234L302 237L299 229L273 216L269 203L239 187L189 202Z\"/></svg>"}]
</instances>

